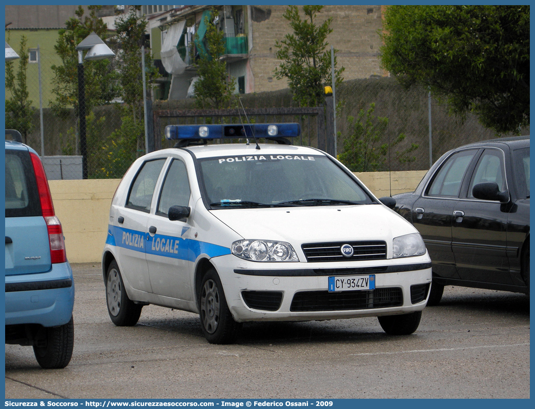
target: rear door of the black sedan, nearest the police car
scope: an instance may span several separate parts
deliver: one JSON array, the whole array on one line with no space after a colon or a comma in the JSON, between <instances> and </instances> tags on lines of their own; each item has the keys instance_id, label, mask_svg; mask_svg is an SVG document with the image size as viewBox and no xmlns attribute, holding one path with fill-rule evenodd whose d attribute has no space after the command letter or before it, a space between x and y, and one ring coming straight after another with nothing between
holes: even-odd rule
<instances>
[{"instance_id":1,"label":"rear door of the black sedan, nearest the police car","mask_svg":"<svg viewBox=\"0 0 535 409\"><path fill-rule=\"evenodd\" d=\"M477 149L450 155L430 178L412 206L412 224L418 229L439 277L458 278L452 250L452 221L465 173Z\"/></svg>"}]
</instances>

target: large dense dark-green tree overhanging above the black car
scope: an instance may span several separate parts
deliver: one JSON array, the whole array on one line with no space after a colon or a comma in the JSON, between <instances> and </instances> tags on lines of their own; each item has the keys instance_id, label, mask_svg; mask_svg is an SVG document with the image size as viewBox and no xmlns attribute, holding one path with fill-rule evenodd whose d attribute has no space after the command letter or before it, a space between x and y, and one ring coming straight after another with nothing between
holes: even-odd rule
<instances>
[{"instance_id":1,"label":"large dense dark-green tree overhanging above the black car","mask_svg":"<svg viewBox=\"0 0 535 409\"><path fill-rule=\"evenodd\" d=\"M389 6L381 59L401 83L430 87L498 133L530 121L530 6Z\"/></svg>"}]
</instances>

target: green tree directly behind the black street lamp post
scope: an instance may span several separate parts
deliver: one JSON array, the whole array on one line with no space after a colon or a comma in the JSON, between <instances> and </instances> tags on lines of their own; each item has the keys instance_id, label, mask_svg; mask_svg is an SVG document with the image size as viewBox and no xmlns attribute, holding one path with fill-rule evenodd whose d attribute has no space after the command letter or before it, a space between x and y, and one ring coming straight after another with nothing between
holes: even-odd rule
<instances>
[{"instance_id":1,"label":"green tree directly behind the black street lamp post","mask_svg":"<svg viewBox=\"0 0 535 409\"><path fill-rule=\"evenodd\" d=\"M91 32L104 39L108 27L97 17L102 6L87 6L89 16L84 16L82 6L75 11L77 17L66 21L65 29L59 30L58 40L54 46L56 54L61 58L61 65L52 65L54 78L51 101L52 109L58 114L66 113L66 109L74 107L78 117L78 51L76 47ZM95 104L109 103L118 96L117 73L109 59L84 61L84 79L86 110L89 112Z\"/></svg>"}]
</instances>

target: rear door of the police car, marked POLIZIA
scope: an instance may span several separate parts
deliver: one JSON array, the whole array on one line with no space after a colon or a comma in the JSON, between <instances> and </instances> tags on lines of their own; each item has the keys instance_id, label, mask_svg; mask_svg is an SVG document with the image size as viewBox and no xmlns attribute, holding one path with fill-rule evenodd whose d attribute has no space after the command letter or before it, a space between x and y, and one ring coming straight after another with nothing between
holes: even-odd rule
<instances>
[{"instance_id":1,"label":"rear door of the police car, marked POLIZIA","mask_svg":"<svg viewBox=\"0 0 535 409\"><path fill-rule=\"evenodd\" d=\"M152 292L145 252L152 196L166 158L144 162L129 187L126 203L114 211L113 238L121 272L136 290Z\"/></svg>"}]
</instances>

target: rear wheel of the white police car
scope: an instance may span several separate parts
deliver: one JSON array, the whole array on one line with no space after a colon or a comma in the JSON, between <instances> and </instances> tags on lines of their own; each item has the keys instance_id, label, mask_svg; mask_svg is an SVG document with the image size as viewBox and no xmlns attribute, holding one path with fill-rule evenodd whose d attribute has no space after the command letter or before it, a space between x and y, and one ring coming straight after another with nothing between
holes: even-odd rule
<instances>
[{"instance_id":1,"label":"rear wheel of the white police car","mask_svg":"<svg viewBox=\"0 0 535 409\"><path fill-rule=\"evenodd\" d=\"M110 263L106 275L106 305L111 321L118 327L135 325L143 308L128 298L123 277L115 260Z\"/></svg>"}]
</instances>

